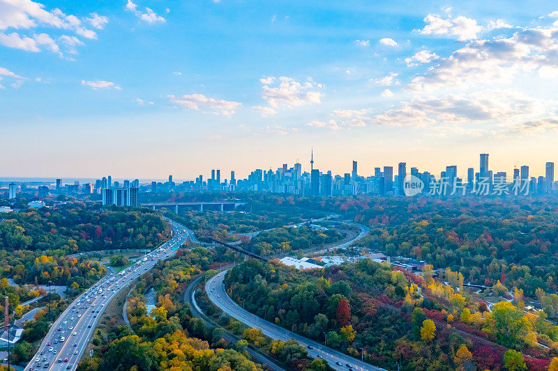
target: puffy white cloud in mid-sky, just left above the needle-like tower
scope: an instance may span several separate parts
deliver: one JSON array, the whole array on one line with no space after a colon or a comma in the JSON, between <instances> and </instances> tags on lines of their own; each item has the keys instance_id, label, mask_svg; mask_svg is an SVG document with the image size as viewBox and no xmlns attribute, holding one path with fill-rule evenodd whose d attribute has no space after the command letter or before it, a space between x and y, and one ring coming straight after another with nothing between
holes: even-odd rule
<instances>
[{"instance_id":1,"label":"puffy white cloud in mid-sky, just left above the needle-like tower","mask_svg":"<svg viewBox=\"0 0 558 371\"><path fill-rule=\"evenodd\" d=\"M322 97L322 93L316 90L322 85L315 84L311 79L301 83L290 77L267 77L260 81L264 84L262 97L272 107L319 103Z\"/></svg>"}]
</instances>

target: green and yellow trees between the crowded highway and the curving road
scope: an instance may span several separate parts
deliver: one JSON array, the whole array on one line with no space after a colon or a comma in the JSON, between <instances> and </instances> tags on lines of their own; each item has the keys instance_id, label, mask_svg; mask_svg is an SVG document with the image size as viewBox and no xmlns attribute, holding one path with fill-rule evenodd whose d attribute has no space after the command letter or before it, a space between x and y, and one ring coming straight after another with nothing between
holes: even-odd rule
<instances>
[{"instance_id":1,"label":"green and yellow trees between the crowded highway and the curving road","mask_svg":"<svg viewBox=\"0 0 558 371\"><path fill-rule=\"evenodd\" d=\"M191 279L211 274L213 268L228 260L234 260L229 252L223 255L212 248L181 248L174 258L158 262L152 271L142 275L127 299L126 315L131 328L107 318L107 324L94 332L93 370L262 370L261 365L250 360L246 340L236 344L225 341L223 329L211 329L193 317L183 300ZM151 288L156 293L156 308L147 313L144 294ZM247 336L253 338L255 334L248 331ZM283 348L276 345L278 356L297 354L289 352L292 345ZM306 349L294 349L308 366L297 370L327 370L310 368ZM90 370L89 359L80 363L78 370Z\"/></svg>"}]
</instances>

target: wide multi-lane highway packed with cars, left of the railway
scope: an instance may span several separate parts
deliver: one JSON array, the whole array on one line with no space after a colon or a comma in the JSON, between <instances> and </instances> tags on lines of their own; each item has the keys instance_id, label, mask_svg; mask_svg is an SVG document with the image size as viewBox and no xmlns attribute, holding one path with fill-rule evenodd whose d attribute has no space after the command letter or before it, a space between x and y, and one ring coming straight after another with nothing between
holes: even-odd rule
<instances>
[{"instance_id":1,"label":"wide multi-lane highway packed with cars, left of the railway","mask_svg":"<svg viewBox=\"0 0 558 371\"><path fill-rule=\"evenodd\" d=\"M174 255L176 248L188 239L188 231L174 221L172 239L142 257L134 265L116 273L109 268L107 276L89 287L56 319L38 352L25 370L75 370L89 339L106 306L120 290L141 274L153 268L158 260Z\"/></svg>"}]
</instances>

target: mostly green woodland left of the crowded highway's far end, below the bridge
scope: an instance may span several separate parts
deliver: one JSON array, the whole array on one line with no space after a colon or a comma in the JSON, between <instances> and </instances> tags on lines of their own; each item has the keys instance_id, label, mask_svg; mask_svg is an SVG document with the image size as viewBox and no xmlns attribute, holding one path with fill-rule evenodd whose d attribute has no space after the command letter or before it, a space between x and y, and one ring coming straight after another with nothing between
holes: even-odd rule
<instances>
[{"instance_id":1,"label":"mostly green woodland left of the crowded highway's far end, below the bridge","mask_svg":"<svg viewBox=\"0 0 558 371\"><path fill-rule=\"evenodd\" d=\"M53 209L10 212L0 221L0 248L62 250L65 253L113 248L154 248L169 237L163 219L147 209L104 208L66 203Z\"/></svg>"}]
</instances>

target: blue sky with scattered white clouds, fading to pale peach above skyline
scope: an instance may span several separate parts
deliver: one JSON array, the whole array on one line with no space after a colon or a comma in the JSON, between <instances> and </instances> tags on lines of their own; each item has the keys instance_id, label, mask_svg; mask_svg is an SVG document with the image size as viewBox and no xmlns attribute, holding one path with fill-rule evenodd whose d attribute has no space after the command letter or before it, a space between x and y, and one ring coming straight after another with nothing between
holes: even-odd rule
<instances>
[{"instance_id":1,"label":"blue sky with scattered white clouds, fading to pale peach above skyline","mask_svg":"<svg viewBox=\"0 0 558 371\"><path fill-rule=\"evenodd\" d=\"M553 1L0 0L3 176L558 161ZM554 12L554 13L553 13Z\"/></svg>"}]
</instances>

